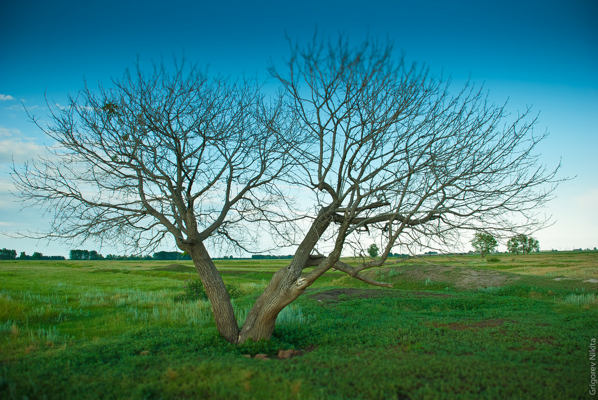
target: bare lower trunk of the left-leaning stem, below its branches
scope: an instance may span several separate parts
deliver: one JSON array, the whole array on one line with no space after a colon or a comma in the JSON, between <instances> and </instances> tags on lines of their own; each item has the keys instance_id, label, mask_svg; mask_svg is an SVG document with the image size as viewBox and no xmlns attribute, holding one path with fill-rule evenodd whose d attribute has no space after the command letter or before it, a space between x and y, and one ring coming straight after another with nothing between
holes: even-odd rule
<instances>
[{"instance_id":1,"label":"bare lower trunk of the left-leaning stem, below its branches","mask_svg":"<svg viewBox=\"0 0 598 400\"><path fill-rule=\"evenodd\" d=\"M218 273L212 258L203 243L188 246L187 253L193 259L197 273L202 279L203 287L212 304L212 314L218 332L230 343L239 340L239 325L234 317L233 304L230 302L224 281Z\"/></svg>"}]
</instances>

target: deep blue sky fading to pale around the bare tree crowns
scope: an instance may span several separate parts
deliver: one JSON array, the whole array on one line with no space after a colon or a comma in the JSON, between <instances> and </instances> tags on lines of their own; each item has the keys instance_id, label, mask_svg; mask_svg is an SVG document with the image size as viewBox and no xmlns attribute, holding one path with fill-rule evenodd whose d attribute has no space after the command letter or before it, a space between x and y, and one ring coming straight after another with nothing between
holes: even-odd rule
<instances>
[{"instance_id":1,"label":"deep blue sky fading to pale around the bare tree crowns","mask_svg":"<svg viewBox=\"0 0 598 400\"><path fill-rule=\"evenodd\" d=\"M562 157L558 198L545 210L555 224L539 231L542 249L598 246L598 2L596 1L304 1L304 2L2 2L0 6L0 230L43 227L39 212L18 213L7 193L11 155L42 151L26 119L48 99L65 103L84 80L108 83L133 67L173 54L210 72L266 78L269 60L288 54L286 35L305 41L343 32L353 42L388 36L406 59L453 78L471 77L516 114L540 112L549 166ZM0 236L17 252L67 255L69 246ZM92 243L84 246L95 248ZM112 249L102 249L103 254Z\"/></svg>"}]
</instances>

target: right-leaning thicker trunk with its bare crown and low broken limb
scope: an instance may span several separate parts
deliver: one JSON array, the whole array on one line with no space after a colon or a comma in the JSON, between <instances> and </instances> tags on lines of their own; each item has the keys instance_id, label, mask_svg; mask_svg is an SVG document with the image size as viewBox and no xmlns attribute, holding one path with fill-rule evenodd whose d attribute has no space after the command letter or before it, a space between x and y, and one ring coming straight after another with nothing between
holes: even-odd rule
<instances>
[{"instance_id":1,"label":"right-leaning thicker trunk with its bare crown and low broken limb","mask_svg":"<svg viewBox=\"0 0 598 400\"><path fill-rule=\"evenodd\" d=\"M291 46L285 71L270 68L305 135L287 179L315 193L316 213L291 264L249 312L241 341L269 338L280 310L332 267L392 286L361 272L388 264L393 246L450 246L467 230L504 236L544 223L535 210L550 199L556 169L538 164L533 150L545 135L534 134L527 111L509 118L469 85L453 96L426 69L394 64L388 42L314 39ZM385 236L379 259L339 260L374 230ZM328 256L313 255L325 240Z\"/></svg>"}]
</instances>

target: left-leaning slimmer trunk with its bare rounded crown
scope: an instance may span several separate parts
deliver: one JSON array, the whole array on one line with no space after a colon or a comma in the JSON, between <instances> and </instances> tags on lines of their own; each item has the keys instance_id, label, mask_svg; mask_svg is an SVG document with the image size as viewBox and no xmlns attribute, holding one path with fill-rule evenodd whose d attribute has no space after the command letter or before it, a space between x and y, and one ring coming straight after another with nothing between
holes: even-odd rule
<instances>
[{"instance_id":1,"label":"left-leaning slimmer trunk with its bare rounded crown","mask_svg":"<svg viewBox=\"0 0 598 400\"><path fill-rule=\"evenodd\" d=\"M218 331L236 343L233 307L206 245L246 249L260 222L286 218L274 180L294 160L282 146L292 131L280 105L264 102L254 81L210 79L184 62L173 74L138 68L97 93L86 86L66 108L51 108L50 126L30 116L56 145L13 167L16 194L53 223L25 236L138 251L172 237L194 261Z\"/></svg>"}]
</instances>

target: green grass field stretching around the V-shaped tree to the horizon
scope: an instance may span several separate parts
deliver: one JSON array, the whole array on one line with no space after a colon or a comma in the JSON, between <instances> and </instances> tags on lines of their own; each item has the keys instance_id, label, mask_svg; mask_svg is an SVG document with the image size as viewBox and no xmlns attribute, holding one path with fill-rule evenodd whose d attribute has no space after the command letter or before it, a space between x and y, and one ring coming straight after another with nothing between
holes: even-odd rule
<instances>
[{"instance_id":1,"label":"green grass field stretching around the V-shaped tree to the horizon","mask_svg":"<svg viewBox=\"0 0 598 400\"><path fill-rule=\"evenodd\" d=\"M287 262L216 261L245 292L241 324ZM272 340L233 346L208 301L178 300L190 261L0 261L0 398L593 397L598 252L435 256L368 274L394 288L331 271ZM301 353L277 358L289 349Z\"/></svg>"}]
</instances>

